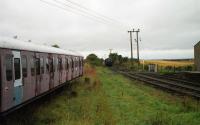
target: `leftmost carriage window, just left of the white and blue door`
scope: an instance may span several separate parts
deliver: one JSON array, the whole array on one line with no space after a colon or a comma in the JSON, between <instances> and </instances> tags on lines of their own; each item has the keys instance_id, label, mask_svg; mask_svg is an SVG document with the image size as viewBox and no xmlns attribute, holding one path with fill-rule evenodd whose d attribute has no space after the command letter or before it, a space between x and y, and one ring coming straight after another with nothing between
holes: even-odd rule
<instances>
[{"instance_id":1,"label":"leftmost carriage window, just left of the white and blue door","mask_svg":"<svg viewBox=\"0 0 200 125\"><path fill-rule=\"evenodd\" d=\"M7 81L12 80L12 55L6 55L5 58L5 64L6 64L6 79Z\"/></svg>"}]
</instances>

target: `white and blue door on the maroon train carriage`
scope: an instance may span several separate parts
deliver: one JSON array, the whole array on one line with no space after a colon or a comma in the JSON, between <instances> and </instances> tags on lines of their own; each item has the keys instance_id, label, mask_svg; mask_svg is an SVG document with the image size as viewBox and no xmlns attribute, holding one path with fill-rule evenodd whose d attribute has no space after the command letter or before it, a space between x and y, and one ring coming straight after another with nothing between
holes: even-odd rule
<instances>
[{"instance_id":1,"label":"white and blue door on the maroon train carriage","mask_svg":"<svg viewBox=\"0 0 200 125\"><path fill-rule=\"evenodd\" d=\"M14 102L18 105L22 102L23 88L22 88L22 65L21 55L19 51L12 51L14 62Z\"/></svg>"}]
</instances>

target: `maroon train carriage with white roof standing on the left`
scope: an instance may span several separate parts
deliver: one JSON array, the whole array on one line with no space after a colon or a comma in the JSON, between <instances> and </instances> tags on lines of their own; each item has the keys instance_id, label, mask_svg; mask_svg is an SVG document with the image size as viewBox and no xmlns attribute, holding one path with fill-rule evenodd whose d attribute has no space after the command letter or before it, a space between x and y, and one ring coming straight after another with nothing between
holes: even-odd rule
<instances>
[{"instance_id":1,"label":"maroon train carriage with white roof standing on the left","mask_svg":"<svg viewBox=\"0 0 200 125\"><path fill-rule=\"evenodd\" d=\"M0 38L0 114L35 100L83 75L77 53Z\"/></svg>"}]
</instances>

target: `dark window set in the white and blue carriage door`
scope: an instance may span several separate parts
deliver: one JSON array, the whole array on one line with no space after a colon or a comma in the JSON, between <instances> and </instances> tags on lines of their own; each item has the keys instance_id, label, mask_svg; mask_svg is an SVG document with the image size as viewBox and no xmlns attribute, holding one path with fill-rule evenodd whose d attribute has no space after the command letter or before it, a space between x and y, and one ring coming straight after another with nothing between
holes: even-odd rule
<instances>
[{"instance_id":1,"label":"dark window set in the white and blue carriage door","mask_svg":"<svg viewBox=\"0 0 200 125\"><path fill-rule=\"evenodd\" d=\"M15 80L21 78L20 58L14 58Z\"/></svg>"}]
</instances>

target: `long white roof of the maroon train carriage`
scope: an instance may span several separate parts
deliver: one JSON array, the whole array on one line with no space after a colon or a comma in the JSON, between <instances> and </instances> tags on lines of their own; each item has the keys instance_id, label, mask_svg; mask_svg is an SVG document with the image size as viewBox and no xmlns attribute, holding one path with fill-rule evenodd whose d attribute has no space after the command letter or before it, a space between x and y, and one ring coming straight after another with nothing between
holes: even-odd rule
<instances>
[{"instance_id":1,"label":"long white roof of the maroon train carriage","mask_svg":"<svg viewBox=\"0 0 200 125\"><path fill-rule=\"evenodd\" d=\"M55 48L55 47L49 47L49 46L45 46L45 45L37 45L34 43L24 42L21 40L7 38L7 37L0 37L0 48L82 56L82 55L72 52L72 51Z\"/></svg>"}]
</instances>

